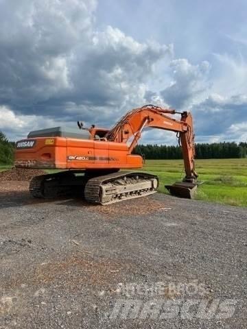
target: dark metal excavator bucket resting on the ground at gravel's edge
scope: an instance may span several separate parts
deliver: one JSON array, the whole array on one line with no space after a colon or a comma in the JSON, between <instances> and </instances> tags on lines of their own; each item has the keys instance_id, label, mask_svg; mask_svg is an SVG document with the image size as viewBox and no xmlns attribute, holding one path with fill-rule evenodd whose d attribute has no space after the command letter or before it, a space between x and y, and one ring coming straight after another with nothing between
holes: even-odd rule
<instances>
[{"instance_id":1,"label":"dark metal excavator bucket resting on the ground at gravel's edge","mask_svg":"<svg viewBox=\"0 0 247 329\"><path fill-rule=\"evenodd\" d=\"M173 185L165 185L165 188L175 197L194 199L198 185L189 182L176 182Z\"/></svg>"}]
</instances>

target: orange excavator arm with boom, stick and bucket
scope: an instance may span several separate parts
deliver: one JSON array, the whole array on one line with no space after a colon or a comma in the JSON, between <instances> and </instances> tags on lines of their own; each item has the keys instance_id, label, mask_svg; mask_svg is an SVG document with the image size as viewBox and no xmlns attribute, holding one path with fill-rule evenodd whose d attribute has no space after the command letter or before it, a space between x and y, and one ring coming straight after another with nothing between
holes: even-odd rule
<instances>
[{"instance_id":1,"label":"orange excavator arm with boom, stick and bucket","mask_svg":"<svg viewBox=\"0 0 247 329\"><path fill-rule=\"evenodd\" d=\"M170 117L171 114L180 114L180 120ZM129 143L128 154L131 154L137 145L145 127L169 130L178 134L182 147L185 165L185 178L183 182L165 186L172 195L193 198L197 188L198 174L195 170L195 143L193 132L193 119L189 112L176 112L146 105L128 112L106 134L108 141Z\"/></svg>"}]
</instances>

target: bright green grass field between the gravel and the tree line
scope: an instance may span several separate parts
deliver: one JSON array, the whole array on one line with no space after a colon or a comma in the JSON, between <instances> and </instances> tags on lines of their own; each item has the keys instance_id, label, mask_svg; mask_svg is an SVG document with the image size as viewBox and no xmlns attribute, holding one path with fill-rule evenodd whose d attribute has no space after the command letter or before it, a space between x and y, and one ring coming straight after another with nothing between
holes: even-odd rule
<instances>
[{"instance_id":1,"label":"bright green grass field between the gravel and the tree line","mask_svg":"<svg viewBox=\"0 0 247 329\"><path fill-rule=\"evenodd\" d=\"M0 171L10 167L0 166ZM183 179L183 160L146 160L143 170L158 175L159 190ZM247 206L247 158L196 160L199 180L197 198L233 206Z\"/></svg>"}]
</instances>

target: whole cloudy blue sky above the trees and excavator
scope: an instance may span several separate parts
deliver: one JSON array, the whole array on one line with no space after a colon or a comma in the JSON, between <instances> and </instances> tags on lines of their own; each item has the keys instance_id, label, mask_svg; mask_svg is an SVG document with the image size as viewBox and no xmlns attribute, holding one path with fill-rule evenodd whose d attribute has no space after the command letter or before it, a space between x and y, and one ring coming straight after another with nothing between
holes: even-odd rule
<instances>
[{"instance_id":1,"label":"whole cloudy blue sky above the trees and excavator","mask_svg":"<svg viewBox=\"0 0 247 329\"><path fill-rule=\"evenodd\" d=\"M247 140L246 0L0 0L0 130L111 127L153 103ZM140 143L176 144L163 130Z\"/></svg>"}]
</instances>

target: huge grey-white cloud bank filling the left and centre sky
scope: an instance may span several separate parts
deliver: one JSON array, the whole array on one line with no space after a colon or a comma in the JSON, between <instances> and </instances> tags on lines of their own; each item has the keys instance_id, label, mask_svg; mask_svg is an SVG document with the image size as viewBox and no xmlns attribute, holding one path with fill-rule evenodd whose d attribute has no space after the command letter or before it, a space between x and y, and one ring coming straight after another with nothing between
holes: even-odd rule
<instances>
[{"instance_id":1,"label":"huge grey-white cloud bank filling the left and centre sky","mask_svg":"<svg viewBox=\"0 0 247 329\"><path fill-rule=\"evenodd\" d=\"M172 47L95 27L95 0L3 1L0 104L16 113L113 123L143 105L146 80Z\"/></svg>"}]
</instances>

